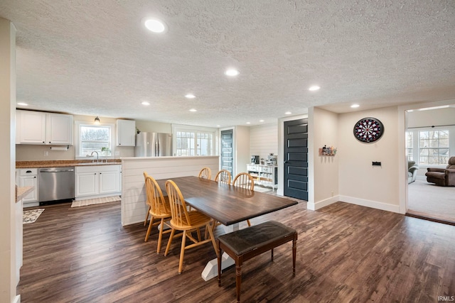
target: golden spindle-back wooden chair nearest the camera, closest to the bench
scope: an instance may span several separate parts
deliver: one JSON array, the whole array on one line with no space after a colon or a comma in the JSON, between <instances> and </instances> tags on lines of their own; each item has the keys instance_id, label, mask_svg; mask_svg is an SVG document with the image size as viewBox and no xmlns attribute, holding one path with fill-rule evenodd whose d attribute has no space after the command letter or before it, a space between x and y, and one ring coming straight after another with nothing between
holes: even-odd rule
<instances>
[{"instance_id":1,"label":"golden spindle-back wooden chair nearest the camera, closest to the bench","mask_svg":"<svg viewBox=\"0 0 455 303\"><path fill-rule=\"evenodd\" d=\"M183 268L183 255L185 250L188 248L193 248L196 246L203 245L205 243L211 242L215 253L218 253L218 248L215 243L215 237L213 236L212 229L210 228L211 218L205 214L192 210L188 211L186 208L185 199L178 188L177 184L172 180L166 181L166 192L169 197L169 204L171 205L171 236L169 237L168 245L166 246L166 251L164 255L167 255L169 248L171 247L171 242L174 237L182 236L182 243L180 249L180 261L178 263L178 273L181 274ZM210 238L205 238L201 240L200 238L200 227L205 226L205 230L208 231ZM182 234L175 235L176 231L183 231ZM196 231L198 238L194 238L192 232ZM186 246L186 239L191 240L190 245Z\"/></svg>"}]
</instances>

